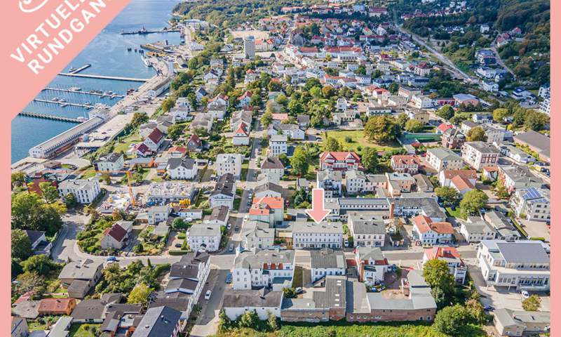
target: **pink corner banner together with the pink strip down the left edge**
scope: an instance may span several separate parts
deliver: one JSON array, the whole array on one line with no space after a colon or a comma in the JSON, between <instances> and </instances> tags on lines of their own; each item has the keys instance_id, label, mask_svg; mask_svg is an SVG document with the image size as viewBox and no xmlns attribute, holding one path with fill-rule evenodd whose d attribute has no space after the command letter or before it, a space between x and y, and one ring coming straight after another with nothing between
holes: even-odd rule
<instances>
[{"instance_id":1,"label":"pink corner banner together with the pink strip down the left edge","mask_svg":"<svg viewBox=\"0 0 561 337\"><path fill-rule=\"evenodd\" d=\"M0 336L10 336L11 120L130 0L2 0L0 36Z\"/></svg>"}]
</instances>

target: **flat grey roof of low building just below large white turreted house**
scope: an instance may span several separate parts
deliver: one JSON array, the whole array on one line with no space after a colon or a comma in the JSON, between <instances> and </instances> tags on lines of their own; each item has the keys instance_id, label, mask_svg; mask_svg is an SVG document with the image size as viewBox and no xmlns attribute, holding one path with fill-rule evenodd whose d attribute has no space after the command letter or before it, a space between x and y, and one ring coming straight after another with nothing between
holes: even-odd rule
<instances>
[{"instance_id":1,"label":"flat grey roof of low building just below large white turreted house","mask_svg":"<svg viewBox=\"0 0 561 337\"><path fill-rule=\"evenodd\" d=\"M223 308L280 308L283 298L282 291L269 291L265 288L258 290L234 290L227 288L224 291Z\"/></svg>"}]
</instances>

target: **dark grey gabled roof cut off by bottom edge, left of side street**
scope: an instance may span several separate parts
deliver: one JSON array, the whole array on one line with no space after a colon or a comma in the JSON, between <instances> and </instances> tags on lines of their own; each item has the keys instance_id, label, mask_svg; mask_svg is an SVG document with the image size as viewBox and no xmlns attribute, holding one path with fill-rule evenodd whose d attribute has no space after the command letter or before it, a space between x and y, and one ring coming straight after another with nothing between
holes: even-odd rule
<instances>
[{"instance_id":1,"label":"dark grey gabled roof cut off by bottom edge, left of side street","mask_svg":"<svg viewBox=\"0 0 561 337\"><path fill-rule=\"evenodd\" d=\"M149 308L133 337L170 337L179 323L181 312L169 307Z\"/></svg>"}]
</instances>

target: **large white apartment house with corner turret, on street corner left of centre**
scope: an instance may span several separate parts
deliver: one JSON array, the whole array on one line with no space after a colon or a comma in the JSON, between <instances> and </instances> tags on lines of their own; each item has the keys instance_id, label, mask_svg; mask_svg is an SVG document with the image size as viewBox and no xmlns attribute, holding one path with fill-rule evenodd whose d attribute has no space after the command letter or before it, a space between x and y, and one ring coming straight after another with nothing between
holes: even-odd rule
<instances>
[{"instance_id":1,"label":"large white apartment house with corner turret, on street corner left of centre","mask_svg":"<svg viewBox=\"0 0 561 337\"><path fill-rule=\"evenodd\" d=\"M291 250L237 253L232 268L233 288L270 286L277 277L291 279L294 276L294 262L295 252Z\"/></svg>"}]
</instances>

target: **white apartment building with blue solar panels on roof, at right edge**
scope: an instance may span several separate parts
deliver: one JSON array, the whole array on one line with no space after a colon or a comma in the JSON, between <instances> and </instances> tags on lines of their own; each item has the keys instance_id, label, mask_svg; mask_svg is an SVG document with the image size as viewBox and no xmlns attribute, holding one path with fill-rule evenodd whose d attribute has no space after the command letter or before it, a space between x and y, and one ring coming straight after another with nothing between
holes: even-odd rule
<instances>
[{"instance_id":1,"label":"white apartment building with blue solar panels on roof, at right edge","mask_svg":"<svg viewBox=\"0 0 561 337\"><path fill-rule=\"evenodd\" d=\"M520 218L550 222L549 190L534 187L516 190L511 197L510 204Z\"/></svg>"}]
</instances>

